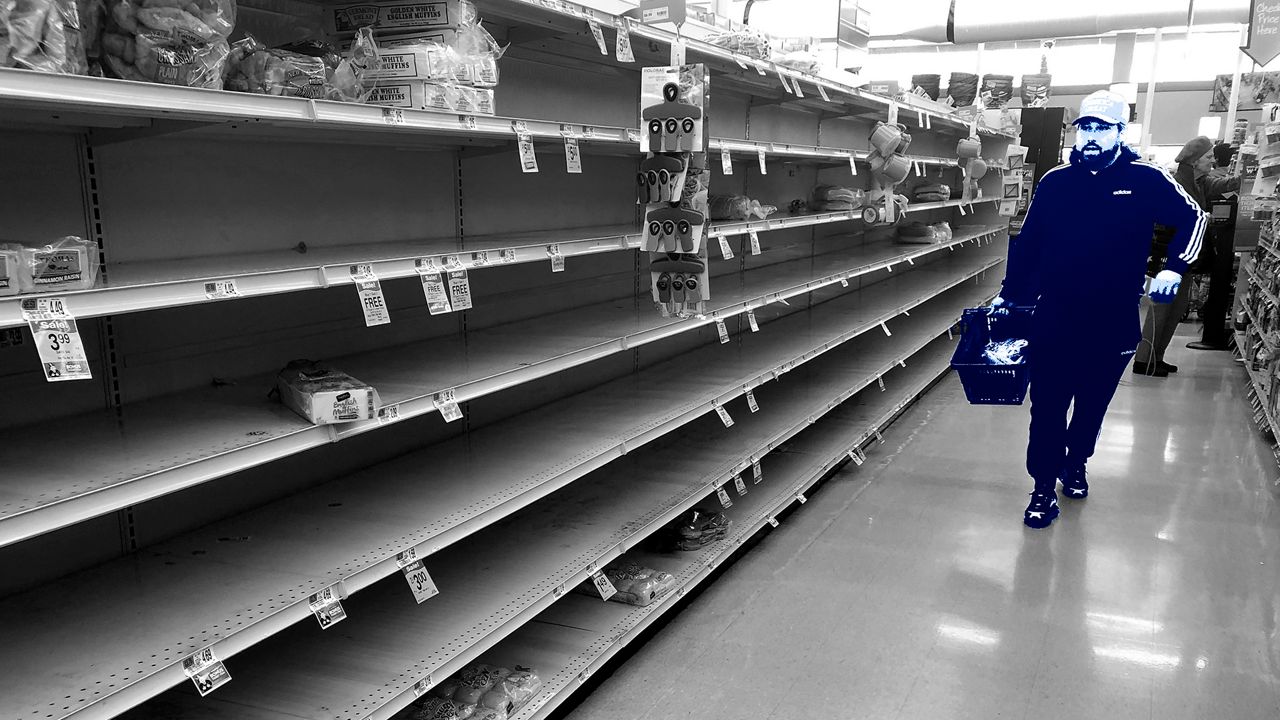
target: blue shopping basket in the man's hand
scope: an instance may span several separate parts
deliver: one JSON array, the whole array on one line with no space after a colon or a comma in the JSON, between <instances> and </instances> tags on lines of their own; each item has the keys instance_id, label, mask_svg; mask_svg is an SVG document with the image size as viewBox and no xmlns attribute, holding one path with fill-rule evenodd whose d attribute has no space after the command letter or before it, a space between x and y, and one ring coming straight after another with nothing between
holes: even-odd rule
<instances>
[{"instance_id":1,"label":"blue shopping basket in the man's hand","mask_svg":"<svg viewBox=\"0 0 1280 720\"><path fill-rule=\"evenodd\" d=\"M970 405L1021 405L1030 383L1028 348L1023 363L995 365L987 360L987 343L1025 340L1030 336L1032 309L1009 307L1007 314L988 314L986 307L968 307L960 316L960 345L951 355L951 366Z\"/></svg>"}]
</instances>

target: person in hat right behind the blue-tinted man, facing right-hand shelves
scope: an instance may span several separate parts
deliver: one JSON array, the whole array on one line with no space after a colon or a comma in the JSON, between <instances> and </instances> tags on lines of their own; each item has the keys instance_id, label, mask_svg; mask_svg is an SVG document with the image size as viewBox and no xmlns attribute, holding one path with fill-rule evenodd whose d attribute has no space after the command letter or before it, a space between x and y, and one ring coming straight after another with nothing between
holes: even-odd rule
<instances>
[{"instance_id":1,"label":"person in hat right behind the blue-tinted man, facing right-hand shelves","mask_svg":"<svg viewBox=\"0 0 1280 720\"><path fill-rule=\"evenodd\" d=\"M1174 160L1178 163L1174 179L1206 213L1210 209L1207 192L1221 195L1233 188L1233 182L1234 187L1240 186L1239 179L1210 177L1210 170L1213 169L1213 141L1204 136L1188 140ZM1166 265L1172 236L1171 228L1156 228L1151 242L1151 258L1147 261L1148 277L1153 278ZM1151 302L1143 307L1146 320L1142 324L1142 343L1133 359L1135 374L1164 378L1169 373L1178 372L1176 365L1165 363L1165 351L1169 350L1169 342L1174 340L1178 323L1183 320L1189 304L1190 283L1184 283L1171 304Z\"/></svg>"}]
</instances>

